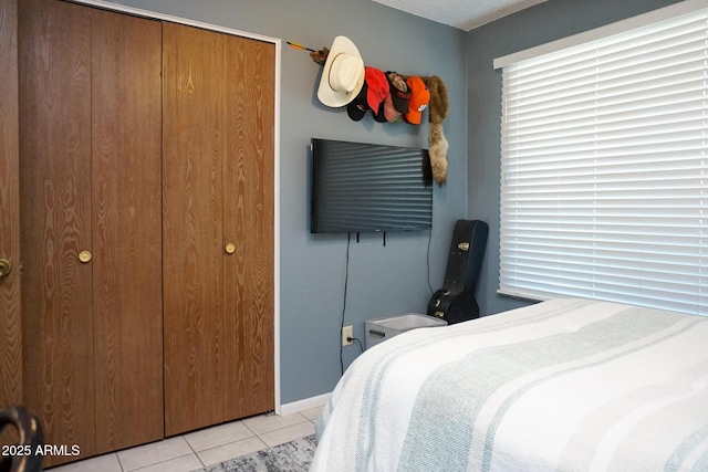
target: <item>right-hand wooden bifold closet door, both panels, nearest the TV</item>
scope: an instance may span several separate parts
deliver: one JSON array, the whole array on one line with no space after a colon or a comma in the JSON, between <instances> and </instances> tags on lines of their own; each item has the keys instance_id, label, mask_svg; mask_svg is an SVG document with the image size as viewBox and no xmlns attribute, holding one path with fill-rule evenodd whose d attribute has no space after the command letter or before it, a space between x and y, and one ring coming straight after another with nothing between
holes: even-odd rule
<instances>
[{"instance_id":1,"label":"right-hand wooden bifold closet door, both panels, nearest the TV","mask_svg":"<svg viewBox=\"0 0 708 472\"><path fill-rule=\"evenodd\" d=\"M274 46L164 33L169 436L274 407Z\"/></svg>"}]
</instances>

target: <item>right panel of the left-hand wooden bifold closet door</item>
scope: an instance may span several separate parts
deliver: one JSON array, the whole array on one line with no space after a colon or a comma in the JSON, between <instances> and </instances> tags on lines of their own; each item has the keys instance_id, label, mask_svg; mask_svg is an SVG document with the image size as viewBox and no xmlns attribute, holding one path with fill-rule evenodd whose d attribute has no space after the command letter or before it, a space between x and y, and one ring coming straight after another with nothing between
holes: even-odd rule
<instances>
[{"instance_id":1,"label":"right panel of the left-hand wooden bifold closet door","mask_svg":"<svg viewBox=\"0 0 708 472\"><path fill-rule=\"evenodd\" d=\"M162 23L92 10L96 442L163 438Z\"/></svg>"}]
</instances>

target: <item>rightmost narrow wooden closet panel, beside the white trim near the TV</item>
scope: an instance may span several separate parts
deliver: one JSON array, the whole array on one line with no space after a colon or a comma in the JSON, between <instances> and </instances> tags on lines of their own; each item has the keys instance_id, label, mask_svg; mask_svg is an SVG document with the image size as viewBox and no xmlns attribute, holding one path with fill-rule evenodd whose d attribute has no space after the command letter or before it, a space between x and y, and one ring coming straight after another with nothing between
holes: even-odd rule
<instances>
[{"instance_id":1,"label":"rightmost narrow wooden closet panel, beside the white trim near the TV","mask_svg":"<svg viewBox=\"0 0 708 472\"><path fill-rule=\"evenodd\" d=\"M274 45L228 36L225 46L227 129L225 258L227 415L274 408L273 385L273 95Z\"/></svg>"}]
</instances>

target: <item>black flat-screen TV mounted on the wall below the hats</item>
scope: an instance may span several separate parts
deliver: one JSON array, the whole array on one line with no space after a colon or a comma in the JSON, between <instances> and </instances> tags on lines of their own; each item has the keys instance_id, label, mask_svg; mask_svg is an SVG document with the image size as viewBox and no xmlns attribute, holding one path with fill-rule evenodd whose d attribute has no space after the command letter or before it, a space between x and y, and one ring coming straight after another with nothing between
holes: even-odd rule
<instances>
[{"instance_id":1,"label":"black flat-screen TV mounted on the wall below the hats","mask_svg":"<svg viewBox=\"0 0 708 472\"><path fill-rule=\"evenodd\" d=\"M312 138L310 231L430 228L433 186L425 159L425 149Z\"/></svg>"}]
</instances>

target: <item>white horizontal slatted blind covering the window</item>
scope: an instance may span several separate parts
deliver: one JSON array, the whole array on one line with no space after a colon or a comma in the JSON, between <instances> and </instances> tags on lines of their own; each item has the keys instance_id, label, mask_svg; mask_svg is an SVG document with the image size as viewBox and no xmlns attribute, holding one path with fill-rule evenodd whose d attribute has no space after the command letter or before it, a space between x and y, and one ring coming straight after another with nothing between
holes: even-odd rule
<instances>
[{"instance_id":1,"label":"white horizontal slatted blind covering the window","mask_svg":"<svg viewBox=\"0 0 708 472\"><path fill-rule=\"evenodd\" d=\"M503 67L500 293L708 315L707 22Z\"/></svg>"}]
</instances>

